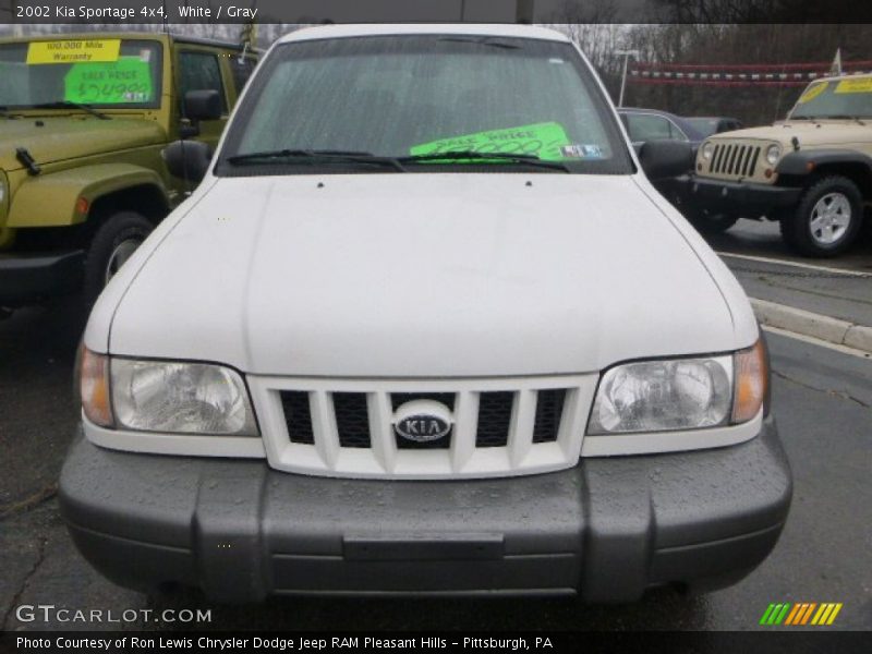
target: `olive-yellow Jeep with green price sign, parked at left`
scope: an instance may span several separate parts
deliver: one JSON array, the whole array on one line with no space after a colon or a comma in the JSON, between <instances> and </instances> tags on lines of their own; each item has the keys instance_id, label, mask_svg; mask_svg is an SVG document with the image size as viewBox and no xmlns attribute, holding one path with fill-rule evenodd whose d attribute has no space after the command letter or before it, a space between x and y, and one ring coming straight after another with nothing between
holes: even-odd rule
<instances>
[{"instance_id":1,"label":"olive-yellow Jeep with green price sign, parked at left","mask_svg":"<svg viewBox=\"0 0 872 654\"><path fill-rule=\"evenodd\" d=\"M0 39L0 315L93 301L189 191L161 150L215 145L255 62L166 34Z\"/></svg>"}]
</instances>

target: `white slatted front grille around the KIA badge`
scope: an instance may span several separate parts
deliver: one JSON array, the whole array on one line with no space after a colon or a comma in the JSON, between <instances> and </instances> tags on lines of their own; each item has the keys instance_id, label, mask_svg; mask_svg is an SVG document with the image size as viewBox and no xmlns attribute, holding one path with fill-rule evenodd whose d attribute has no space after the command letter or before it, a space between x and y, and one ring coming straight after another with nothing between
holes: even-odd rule
<instances>
[{"instance_id":1,"label":"white slatted front grille around the KIA badge","mask_svg":"<svg viewBox=\"0 0 872 654\"><path fill-rule=\"evenodd\" d=\"M532 474L574 465L596 375L461 380L250 377L270 464L349 477L440 479ZM420 443L395 428L412 400L452 416Z\"/></svg>"}]
</instances>

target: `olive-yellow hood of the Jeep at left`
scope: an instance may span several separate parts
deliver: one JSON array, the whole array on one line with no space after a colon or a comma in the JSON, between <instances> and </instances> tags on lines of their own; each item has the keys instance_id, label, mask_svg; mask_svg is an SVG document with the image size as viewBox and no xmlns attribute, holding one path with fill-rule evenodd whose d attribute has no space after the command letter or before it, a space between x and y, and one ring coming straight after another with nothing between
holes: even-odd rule
<instances>
[{"instance_id":1,"label":"olive-yellow hood of the Jeep at left","mask_svg":"<svg viewBox=\"0 0 872 654\"><path fill-rule=\"evenodd\" d=\"M37 126L41 122L43 126ZM142 119L19 118L0 119L0 169L22 168L15 149L25 147L38 165L87 155L162 143L164 130Z\"/></svg>"}]
</instances>

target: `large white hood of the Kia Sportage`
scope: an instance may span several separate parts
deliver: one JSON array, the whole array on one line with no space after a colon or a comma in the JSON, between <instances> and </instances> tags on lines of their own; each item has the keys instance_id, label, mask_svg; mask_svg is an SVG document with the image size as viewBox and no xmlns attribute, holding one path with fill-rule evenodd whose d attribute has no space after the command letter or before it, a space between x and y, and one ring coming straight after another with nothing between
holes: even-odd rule
<instances>
[{"instance_id":1,"label":"large white hood of the Kia Sportage","mask_svg":"<svg viewBox=\"0 0 872 654\"><path fill-rule=\"evenodd\" d=\"M736 347L705 253L630 177L222 178L185 207L143 246L113 354L422 377Z\"/></svg>"}]
</instances>

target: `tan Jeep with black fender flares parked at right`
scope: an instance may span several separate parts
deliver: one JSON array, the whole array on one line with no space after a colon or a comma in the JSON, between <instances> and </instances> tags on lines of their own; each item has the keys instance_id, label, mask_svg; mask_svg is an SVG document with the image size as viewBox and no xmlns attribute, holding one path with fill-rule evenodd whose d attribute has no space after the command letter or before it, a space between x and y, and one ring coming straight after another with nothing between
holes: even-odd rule
<instances>
[{"instance_id":1,"label":"tan Jeep with black fender flares parked at right","mask_svg":"<svg viewBox=\"0 0 872 654\"><path fill-rule=\"evenodd\" d=\"M688 192L702 231L765 218L800 254L845 251L872 203L872 75L816 80L785 121L712 136Z\"/></svg>"}]
</instances>

